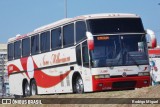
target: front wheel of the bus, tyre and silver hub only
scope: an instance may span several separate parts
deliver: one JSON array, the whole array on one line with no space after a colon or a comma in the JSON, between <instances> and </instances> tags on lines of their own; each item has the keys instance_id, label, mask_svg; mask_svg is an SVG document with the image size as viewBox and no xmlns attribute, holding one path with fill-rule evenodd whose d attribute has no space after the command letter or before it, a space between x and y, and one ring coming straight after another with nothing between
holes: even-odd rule
<instances>
[{"instance_id":1,"label":"front wheel of the bus, tyre and silver hub only","mask_svg":"<svg viewBox=\"0 0 160 107\"><path fill-rule=\"evenodd\" d=\"M75 91L76 93L83 93L84 92L84 85L81 77L77 77L75 83Z\"/></svg>"}]
</instances>

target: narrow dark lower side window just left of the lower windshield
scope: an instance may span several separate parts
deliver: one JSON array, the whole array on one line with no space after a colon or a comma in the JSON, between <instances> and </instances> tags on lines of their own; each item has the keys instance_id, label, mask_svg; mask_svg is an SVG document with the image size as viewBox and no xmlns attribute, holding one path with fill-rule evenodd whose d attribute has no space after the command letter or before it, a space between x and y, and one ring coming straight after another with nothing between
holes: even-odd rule
<instances>
[{"instance_id":1,"label":"narrow dark lower side window just left of the lower windshield","mask_svg":"<svg viewBox=\"0 0 160 107\"><path fill-rule=\"evenodd\" d=\"M83 66L89 67L89 56L88 56L87 42L84 42L82 44L82 57L83 57Z\"/></svg>"}]
</instances>

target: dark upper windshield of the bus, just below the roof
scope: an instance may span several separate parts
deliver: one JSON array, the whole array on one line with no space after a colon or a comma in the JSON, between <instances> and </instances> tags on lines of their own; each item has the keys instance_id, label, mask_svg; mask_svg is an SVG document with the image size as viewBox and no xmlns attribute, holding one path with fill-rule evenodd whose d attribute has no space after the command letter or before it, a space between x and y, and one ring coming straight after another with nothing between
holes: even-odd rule
<instances>
[{"instance_id":1,"label":"dark upper windshield of the bus, just below the roof","mask_svg":"<svg viewBox=\"0 0 160 107\"><path fill-rule=\"evenodd\" d=\"M144 33L140 18L103 18L88 20L92 34Z\"/></svg>"}]
</instances>

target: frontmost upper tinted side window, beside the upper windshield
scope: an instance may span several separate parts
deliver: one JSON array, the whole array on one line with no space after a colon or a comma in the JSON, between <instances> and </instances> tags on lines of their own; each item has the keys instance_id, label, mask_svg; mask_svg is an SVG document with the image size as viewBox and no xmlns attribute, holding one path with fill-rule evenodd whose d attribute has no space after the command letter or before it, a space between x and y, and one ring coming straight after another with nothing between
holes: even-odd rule
<instances>
[{"instance_id":1,"label":"frontmost upper tinted side window, beside the upper windshield","mask_svg":"<svg viewBox=\"0 0 160 107\"><path fill-rule=\"evenodd\" d=\"M86 37L86 24L83 21L76 22L76 42Z\"/></svg>"}]
</instances>

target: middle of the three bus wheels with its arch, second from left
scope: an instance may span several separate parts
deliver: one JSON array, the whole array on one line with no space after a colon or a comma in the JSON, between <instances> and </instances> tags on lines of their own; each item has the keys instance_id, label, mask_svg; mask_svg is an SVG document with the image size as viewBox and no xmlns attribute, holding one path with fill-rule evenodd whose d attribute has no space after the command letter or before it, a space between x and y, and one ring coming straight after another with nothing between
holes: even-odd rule
<instances>
[{"instance_id":1,"label":"middle of the three bus wheels with its arch, second from left","mask_svg":"<svg viewBox=\"0 0 160 107\"><path fill-rule=\"evenodd\" d=\"M34 78L32 78L30 80L30 94L31 95L37 95L38 91L37 91L37 83L36 80Z\"/></svg>"}]
</instances>

